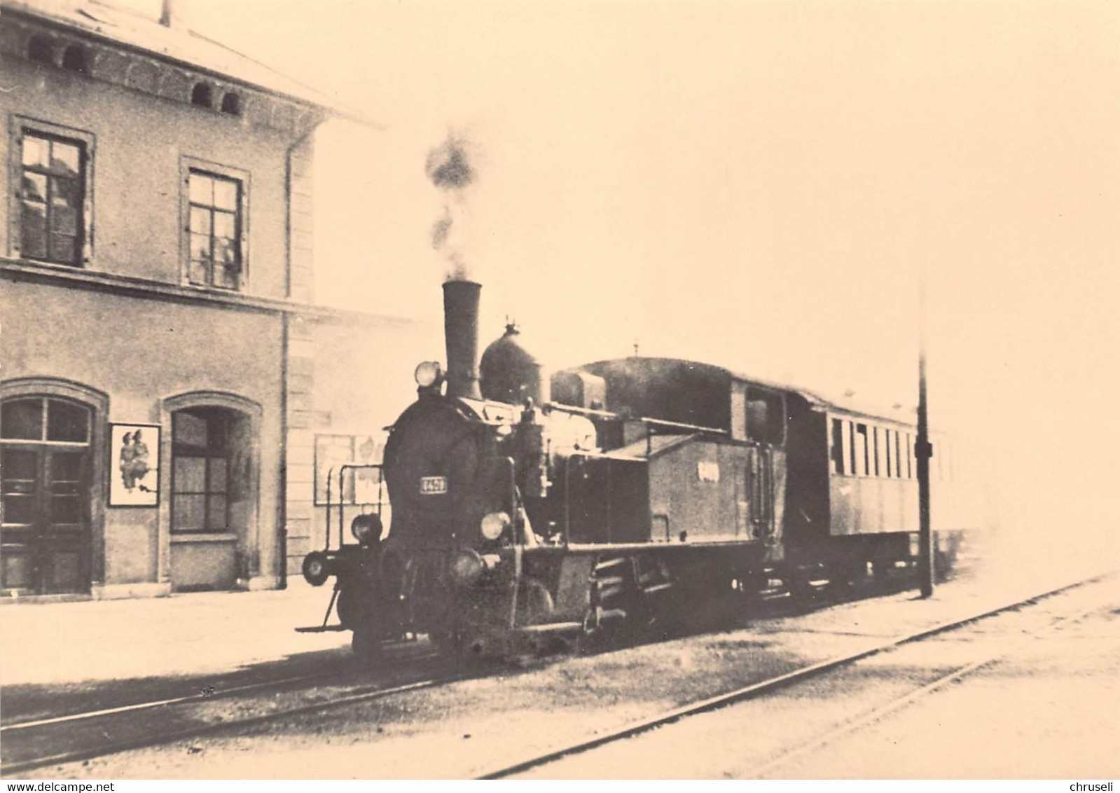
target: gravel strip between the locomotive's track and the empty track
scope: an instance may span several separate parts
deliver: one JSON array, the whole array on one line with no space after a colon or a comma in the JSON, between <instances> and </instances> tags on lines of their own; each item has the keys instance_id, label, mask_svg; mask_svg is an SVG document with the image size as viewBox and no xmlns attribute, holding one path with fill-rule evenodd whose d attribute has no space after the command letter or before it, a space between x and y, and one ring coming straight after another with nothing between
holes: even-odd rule
<instances>
[{"instance_id":1,"label":"gravel strip between the locomotive's track and the empty track","mask_svg":"<svg viewBox=\"0 0 1120 793\"><path fill-rule=\"evenodd\" d=\"M931 600L903 593L847 603L795 617L757 619L731 631L629 647L587 657L535 662L526 669L439 689L279 721L251 734L122 753L44 768L40 778L347 778L464 777L508 764L595 729L763 680L838 654L1037 591L1037 581L956 581ZM869 669L877 696L892 697L916 675L952 662ZM858 688L858 687L857 687ZM820 724L846 707L867 706L852 691L811 691L804 703ZM764 713L731 739L763 746ZM725 738L727 739L727 738ZM710 768L719 775L719 769ZM599 769L596 776L609 775ZM629 768L626 776L653 776ZM799 774L800 775L800 774ZM943 774L934 774L941 776Z\"/></svg>"}]
</instances>

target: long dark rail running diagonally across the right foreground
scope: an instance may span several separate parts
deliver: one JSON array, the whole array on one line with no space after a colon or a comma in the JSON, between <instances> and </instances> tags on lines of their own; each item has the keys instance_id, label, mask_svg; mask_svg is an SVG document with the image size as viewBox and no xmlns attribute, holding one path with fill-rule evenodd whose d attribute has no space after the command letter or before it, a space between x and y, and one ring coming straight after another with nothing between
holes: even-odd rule
<instances>
[{"instance_id":1,"label":"long dark rail running diagonally across the right foreground","mask_svg":"<svg viewBox=\"0 0 1120 793\"><path fill-rule=\"evenodd\" d=\"M522 774L532 768L536 768L550 763L554 763L559 759L571 755L582 754L591 749L605 746L607 744L613 744L618 740L624 740L626 738L641 735L643 733L648 733L650 730L656 729L664 725L673 724L680 721L681 719L688 718L690 716L698 716L700 713L709 712L712 710L718 710L728 705L734 705L735 702L754 699L763 694L777 691L787 685L802 682L815 678L825 672L832 670L848 666L864 659L871 657L872 655L878 655L894 647L902 646L904 644L909 644L912 642L920 642L937 634L948 633L954 631L965 625L971 625L972 623L979 622L981 619L987 619L993 617L1004 612L1009 612L1016 608L1021 608L1024 606L1030 606L1037 604L1039 600L1054 597L1070 589L1076 589L1077 587L1088 586L1096 581L1103 580L1110 576L1116 575L1116 570L1109 570L1107 572L1098 573L1091 576L1090 578L1080 579L1070 584L1062 585L1054 589L1048 589L1046 591L1032 595L1029 597L1020 598L1018 600L1012 600L1010 603L1005 603L995 608L989 608L987 610L980 612L978 614L969 615L967 617L959 617L956 619L946 621L939 623L933 627L923 628L915 633L906 634L903 636L896 636L895 638L881 642L871 647L857 651L855 653L849 653L847 655L838 655L825 661L820 661L818 663L810 664L808 666L802 666L801 669L795 669L791 672L780 674L775 678L768 680L763 680L757 683L752 683L749 685L744 685L741 688L735 689L732 691L727 691L721 694L716 694L715 697L709 697L707 699L699 700L697 702L691 702L689 705L683 705L671 710L656 713L637 721L632 721L623 727L601 733L588 738L577 739L575 741L557 746L543 754L534 755L532 757L526 757L522 761L513 763L494 771L486 772L477 776L479 780L501 780L515 774Z\"/></svg>"}]
</instances>

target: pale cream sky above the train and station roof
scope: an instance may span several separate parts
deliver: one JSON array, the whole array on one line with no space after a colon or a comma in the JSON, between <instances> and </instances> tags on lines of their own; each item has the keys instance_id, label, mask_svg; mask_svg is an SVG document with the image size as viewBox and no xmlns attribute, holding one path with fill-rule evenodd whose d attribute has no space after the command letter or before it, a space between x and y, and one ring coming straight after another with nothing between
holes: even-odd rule
<instances>
[{"instance_id":1,"label":"pale cream sky above the train and station roof","mask_svg":"<svg viewBox=\"0 0 1120 793\"><path fill-rule=\"evenodd\" d=\"M439 321L455 134L483 344L510 316L556 367L636 343L909 408L924 280L934 425L1005 515L1107 520L1120 4L177 2L383 127L320 132L319 300Z\"/></svg>"}]
</instances>

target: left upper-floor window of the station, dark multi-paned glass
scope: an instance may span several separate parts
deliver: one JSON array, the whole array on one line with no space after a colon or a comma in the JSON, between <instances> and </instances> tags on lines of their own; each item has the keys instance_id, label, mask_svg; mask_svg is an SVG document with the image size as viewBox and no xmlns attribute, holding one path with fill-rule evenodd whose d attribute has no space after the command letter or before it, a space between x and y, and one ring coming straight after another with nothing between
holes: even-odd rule
<instances>
[{"instance_id":1,"label":"left upper-floor window of the station, dark multi-paned glass","mask_svg":"<svg viewBox=\"0 0 1120 793\"><path fill-rule=\"evenodd\" d=\"M81 267L88 223L88 141L39 127L18 132L20 211L12 243L25 259Z\"/></svg>"}]
</instances>

